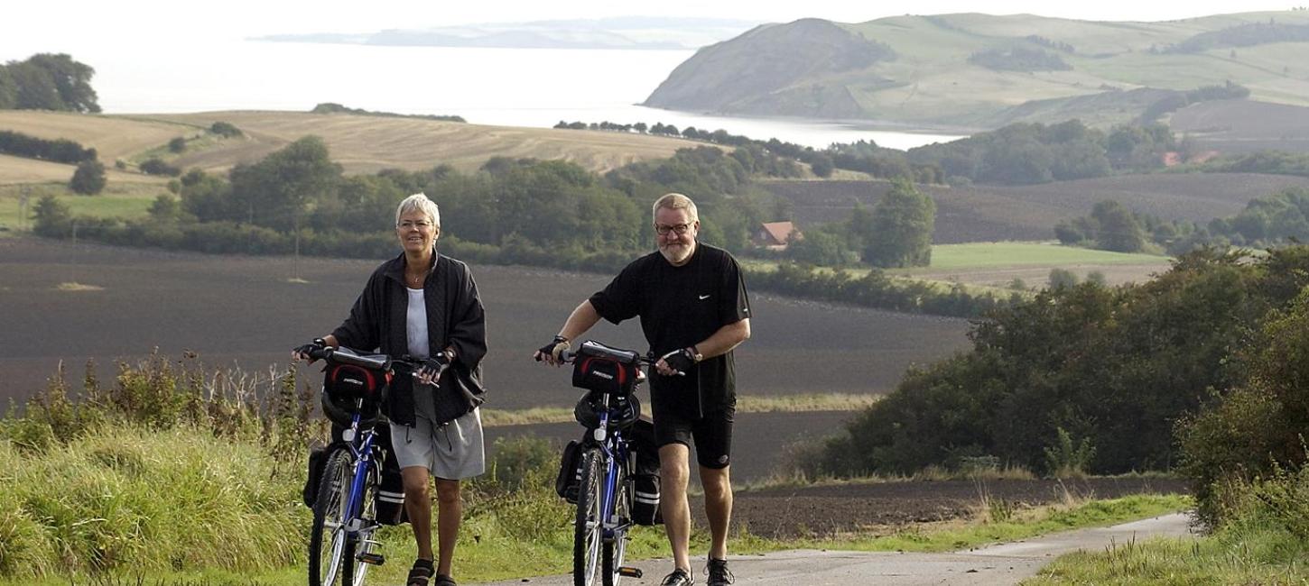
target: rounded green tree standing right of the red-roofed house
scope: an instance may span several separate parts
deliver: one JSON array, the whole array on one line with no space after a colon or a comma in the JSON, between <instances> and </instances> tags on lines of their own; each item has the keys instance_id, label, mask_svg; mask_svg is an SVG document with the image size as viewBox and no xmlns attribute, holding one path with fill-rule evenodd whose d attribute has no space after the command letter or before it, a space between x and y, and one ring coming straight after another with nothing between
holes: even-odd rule
<instances>
[{"instance_id":1,"label":"rounded green tree standing right of the red-roofed house","mask_svg":"<svg viewBox=\"0 0 1309 586\"><path fill-rule=\"evenodd\" d=\"M874 267L925 267L932 262L936 203L912 183L895 181L873 208L864 234L864 262Z\"/></svg>"}]
</instances>

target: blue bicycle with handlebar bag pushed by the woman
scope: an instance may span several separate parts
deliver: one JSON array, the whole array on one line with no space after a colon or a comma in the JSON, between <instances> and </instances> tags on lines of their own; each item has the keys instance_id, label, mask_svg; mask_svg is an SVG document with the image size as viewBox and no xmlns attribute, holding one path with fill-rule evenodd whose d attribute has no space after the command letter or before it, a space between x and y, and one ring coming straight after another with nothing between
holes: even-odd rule
<instances>
[{"instance_id":1,"label":"blue bicycle with handlebar bag pushed by the woman","mask_svg":"<svg viewBox=\"0 0 1309 586\"><path fill-rule=\"evenodd\" d=\"M395 511L404 504L403 492L382 491L385 454L378 433L390 432L376 429L385 425L380 408L391 377L397 371L412 374L418 362L348 348L323 348L309 357L327 362L323 412L343 426L340 441L326 457L314 500L309 586L363 586L368 568L385 561L372 539L382 525L378 504Z\"/></svg>"}]
</instances>

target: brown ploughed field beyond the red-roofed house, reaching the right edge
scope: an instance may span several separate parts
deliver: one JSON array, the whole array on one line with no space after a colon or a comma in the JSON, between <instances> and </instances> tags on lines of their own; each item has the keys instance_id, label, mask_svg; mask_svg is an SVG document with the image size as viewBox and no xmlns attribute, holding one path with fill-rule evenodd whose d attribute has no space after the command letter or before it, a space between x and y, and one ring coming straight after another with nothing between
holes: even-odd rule
<instances>
[{"instance_id":1,"label":"brown ploughed field beyond the red-roofed house, reaching the right edge","mask_svg":"<svg viewBox=\"0 0 1309 586\"><path fill-rule=\"evenodd\" d=\"M791 200L805 224L844 220L856 201L872 207L886 182L768 182L764 188ZM1254 198L1284 187L1309 187L1309 178L1253 173L1151 174L1055 182L1039 186L923 187L936 201L936 243L1042 241L1060 220L1090 213L1115 199L1138 212L1207 222L1233 216Z\"/></svg>"}]
</instances>

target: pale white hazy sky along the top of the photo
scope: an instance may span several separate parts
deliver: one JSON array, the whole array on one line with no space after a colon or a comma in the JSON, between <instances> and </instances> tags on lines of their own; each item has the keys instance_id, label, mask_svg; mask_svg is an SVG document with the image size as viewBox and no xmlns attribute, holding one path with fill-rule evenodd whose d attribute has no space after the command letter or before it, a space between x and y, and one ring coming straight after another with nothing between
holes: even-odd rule
<instances>
[{"instance_id":1,"label":"pale white hazy sky along the top of the photo","mask_svg":"<svg viewBox=\"0 0 1309 586\"><path fill-rule=\"evenodd\" d=\"M73 0L13 1L0 18L0 58L37 51L86 51L102 43L203 43L271 33L361 33L474 22L606 16L725 17L785 22L818 17L863 22L893 14L1033 13L1086 20L1157 21L1230 12L1284 10L1309 0L1191 1L870 1L870 0ZM162 48L162 47L161 47Z\"/></svg>"}]
</instances>

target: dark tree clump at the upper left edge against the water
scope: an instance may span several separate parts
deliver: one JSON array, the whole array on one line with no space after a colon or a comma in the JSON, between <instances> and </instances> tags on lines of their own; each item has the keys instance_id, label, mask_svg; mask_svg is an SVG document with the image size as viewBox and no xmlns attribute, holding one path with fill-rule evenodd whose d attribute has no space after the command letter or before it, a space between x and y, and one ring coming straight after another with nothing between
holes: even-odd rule
<instances>
[{"instance_id":1,"label":"dark tree clump at the upper left edge against the water","mask_svg":"<svg viewBox=\"0 0 1309 586\"><path fill-rule=\"evenodd\" d=\"M0 65L0 110L98 112L96 69L67 54L37 54Z\"/></svg>"}]
</instances>

